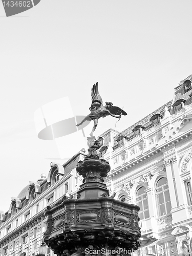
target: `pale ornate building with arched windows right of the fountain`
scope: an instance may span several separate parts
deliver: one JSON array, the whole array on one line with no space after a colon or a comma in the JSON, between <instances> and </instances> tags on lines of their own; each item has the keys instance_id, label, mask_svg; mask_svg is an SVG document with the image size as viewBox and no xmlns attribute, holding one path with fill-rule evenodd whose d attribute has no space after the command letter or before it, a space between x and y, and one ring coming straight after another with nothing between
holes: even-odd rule
<instances>
[{"instance_id":1,"label":"pale ornate building with arched windows right of the fountain","mask_svg":"<svg viewBox=\"0 0 192 256\"><path fill-rule=\"evenodd\" d=\"M172 101L118 133L101 136L115 198L140 207L141 248L135 255L192 255L192 75Z\"/></svg>"}]
</instances>

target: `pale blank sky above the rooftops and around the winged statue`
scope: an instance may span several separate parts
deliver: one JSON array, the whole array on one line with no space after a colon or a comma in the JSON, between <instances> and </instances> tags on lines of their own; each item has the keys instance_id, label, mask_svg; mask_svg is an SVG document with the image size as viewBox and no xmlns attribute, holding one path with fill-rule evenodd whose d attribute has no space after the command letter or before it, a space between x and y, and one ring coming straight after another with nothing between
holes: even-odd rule
<instances>
[{"instance_id":1,"label":"pale blank sky above the rooftops and around the winged statue","mask_svg":"<svg viewBox=\"0 0 192 256\"><path fill-rule=\"evenodd\" d=\"M41 0L6 17L0 3L0 210L42 173L63 164L54 140L37 137L34 113L69 97L88 115L91 88L123 107L99 119L95 136L119 132L173 99L192 73L191 0ZM60 109L67 112L67 109ZM62 113L61 113L62 114ZM76 146L75 140L67 146Z\"/></svg>"}]
</instances>

